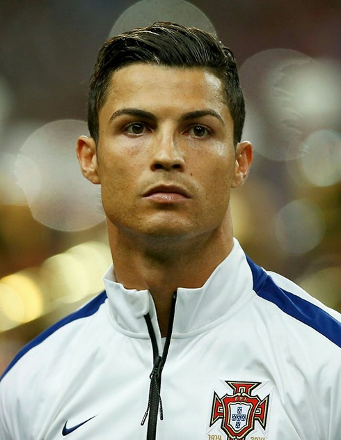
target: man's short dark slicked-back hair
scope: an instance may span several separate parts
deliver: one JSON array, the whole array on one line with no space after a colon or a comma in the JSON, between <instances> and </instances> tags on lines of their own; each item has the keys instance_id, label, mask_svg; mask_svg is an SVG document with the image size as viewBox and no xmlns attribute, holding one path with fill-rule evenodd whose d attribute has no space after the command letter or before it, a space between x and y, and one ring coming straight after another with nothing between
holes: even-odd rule
<instances>
[{"instance_id":1,"label":"man's short dark slicked-back hair","mask_svg":"<svg viewBox=\"0 0 341 440\"><path fill-rule=\"evenodd\" d=\"M245 120L244 97L235 57L214 36L180 24L157 22L107 40L98 54L88 97L88 129L98 142L98 113L103 107L113 72L134 63L179 68L205 68L221 79L234 123L234 143L241 140Z\"/></svg>"}]
</instances>

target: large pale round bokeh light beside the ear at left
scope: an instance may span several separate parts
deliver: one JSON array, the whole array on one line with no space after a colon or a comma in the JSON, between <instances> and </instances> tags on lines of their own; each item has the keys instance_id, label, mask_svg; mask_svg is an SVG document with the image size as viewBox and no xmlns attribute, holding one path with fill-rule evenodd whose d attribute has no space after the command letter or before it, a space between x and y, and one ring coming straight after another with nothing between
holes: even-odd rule
<instances>
[{"instance_id":1,"label":"large pale round bokeh light beside the ear at left","mask_svg":"<svg viewBox=\"0 0 341 440\"><path fill-rule=\"evenodd\" d=\"M86 180L76 156L86 123L58 120L36 130L17 158L17 180L33 217L58 230L83 230L104 220L100 186Z\"/></svg>"}]
</instances>

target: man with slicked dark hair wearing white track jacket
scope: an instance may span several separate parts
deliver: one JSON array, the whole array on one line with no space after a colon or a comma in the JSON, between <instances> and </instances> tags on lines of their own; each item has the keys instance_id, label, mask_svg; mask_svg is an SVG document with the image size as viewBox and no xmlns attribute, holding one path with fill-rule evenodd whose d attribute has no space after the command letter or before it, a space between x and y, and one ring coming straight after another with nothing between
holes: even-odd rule
<instances>
[{"instance_id":1,"label":"man with slicked dark hair wearing white track jacket","mask_svg":"<svg viewBox=\"0 0 341 440\"><path fill-rule=\"evenodd\" d=\"M104 44L77 154L113 266L6 370L1 439L340 439L340 315L232 235L243 123L235 58L207 33Z\"/></svg>"}]
</instances>

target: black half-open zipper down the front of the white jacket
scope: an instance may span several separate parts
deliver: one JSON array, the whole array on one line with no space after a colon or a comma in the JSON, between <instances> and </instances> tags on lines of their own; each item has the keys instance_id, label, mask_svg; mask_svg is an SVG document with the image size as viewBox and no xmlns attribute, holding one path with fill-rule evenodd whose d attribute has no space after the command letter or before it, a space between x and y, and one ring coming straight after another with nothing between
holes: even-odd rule
<instances>
[{"instance_id":1,"label":"black half-open zipper down the front of the white jacket","mask_svg":"<svg viewBox=\"0 0 341 440\"><path fill-rule=\"evenodd\" d=\"M164 409L162 408L162 400L161 400L161 373L164 369L164 364L166 362L168 349L170 345L170 339L172 337L173 331L173 322L175 315L175 303L177 299L177 292L173 293L172 305L170 307L170 315L168 321L168 329L167 336L164 345L164 351L162 352L162 356L159 355L159 349L157 347L157 338L155 336L154 329L152 327L152 321L150 320L150 315L147 313L145 315L145 322L148 327L148 333L150 336L150 340L152 341L152 352L153 352L153 368L150 373L150 388L149 388L149 397L148 397L148 407L145 411L145 415L141 421L141 425L144 425L148 414L148 429L147 429L147 440L156 439L157 434L157 416L160 411L160 420L164 420Z\"/></svg>"}]
</instances>

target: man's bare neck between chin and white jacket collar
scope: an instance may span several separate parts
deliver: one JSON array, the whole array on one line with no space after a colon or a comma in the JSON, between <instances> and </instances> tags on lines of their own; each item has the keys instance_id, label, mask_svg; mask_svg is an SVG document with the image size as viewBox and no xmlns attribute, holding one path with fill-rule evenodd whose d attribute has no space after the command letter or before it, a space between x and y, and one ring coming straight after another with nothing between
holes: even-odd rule
<instances>
[{"instance_id":1,"label":"man's bare neck between chin and white jacket collar","mask_svg":"<svg viewBox=\"0 0 341 440\"><path fill-rule=\"evenodd\" d=\"M149 290L161 335L166 335L170 304L177 288L200 288L233 246L230 220L191 239L136 237L108 222L116 280L127 289Z\"/></svg>"}]
</instances>

